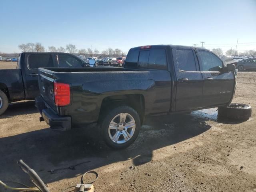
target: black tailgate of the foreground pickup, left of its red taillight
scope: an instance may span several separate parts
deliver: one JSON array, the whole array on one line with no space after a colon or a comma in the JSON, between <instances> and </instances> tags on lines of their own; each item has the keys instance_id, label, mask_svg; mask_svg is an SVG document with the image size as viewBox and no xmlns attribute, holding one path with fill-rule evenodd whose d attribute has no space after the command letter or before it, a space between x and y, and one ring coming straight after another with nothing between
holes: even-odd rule
<instances>
[{"instance_id":1,"label":"black tailgate of the foreground pickup, left of its red taillight","mask_svg":"<svg viewBox=\"0 0 256 192\"><path fill-rule=\"evenodd\" d=\"M47 70L49 71L49 70ZM46 105L48 105L52 110L56 111L56 106L54 102L54 76L45 69L38 69L38 84L40 89L40 94Z\"/></svg>"}]
</instances>

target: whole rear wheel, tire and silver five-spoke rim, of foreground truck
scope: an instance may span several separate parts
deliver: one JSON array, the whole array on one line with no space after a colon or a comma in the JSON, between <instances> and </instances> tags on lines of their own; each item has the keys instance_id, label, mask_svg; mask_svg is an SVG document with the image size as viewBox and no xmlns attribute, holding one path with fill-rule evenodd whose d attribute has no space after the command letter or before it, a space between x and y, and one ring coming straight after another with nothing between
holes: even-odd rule
<instances>
[{"instance_id":1,"label":"whole rear wheel, tire and silver five-spoke rim, of foreground truck","mask_svg":"<svg viewBox=\"0 0 256 192\"><path fill-rule=\"evenodd\" d=\"M122 149L132 144L140 131L140 117L129 106L119 106L110 111L102 120L102 136L106 144Z\"/></svg>"}]
</instances>

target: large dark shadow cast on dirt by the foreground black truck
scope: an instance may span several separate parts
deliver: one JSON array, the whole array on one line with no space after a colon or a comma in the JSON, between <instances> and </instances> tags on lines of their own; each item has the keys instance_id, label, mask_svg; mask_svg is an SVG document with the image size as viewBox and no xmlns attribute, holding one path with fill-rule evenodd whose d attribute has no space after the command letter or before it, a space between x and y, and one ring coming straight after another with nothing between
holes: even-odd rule
<instances>
[{"instance_id":1,"label":"large dark shadow cast on dirt by the foreground black truck","mask_svg":"<svg viewBox=\"0 0 256 192\"><path fill-rule=\"evenodd\" d=\"M216 112L214 112L216 120ZM36 130L0 138L0 179L28 183L28 177L16 165L23 159L45 183L74 178L87 170L97 169L115 162L132 160L135 166L150 162L153 151L188 140L211 128L202 114L177 114L147 118L137 140L124 150L105 146L94 129L76 129L54 132ZM213 117L212 117L213 118ZM167 148L168 150L176 150ZM80 164L82 163L82 164ZM68 167L75 166L72 170ZM67 168L65 170L55 170ZM52 172L50 172L52 170Z\"/></svg>"}]
</instances>

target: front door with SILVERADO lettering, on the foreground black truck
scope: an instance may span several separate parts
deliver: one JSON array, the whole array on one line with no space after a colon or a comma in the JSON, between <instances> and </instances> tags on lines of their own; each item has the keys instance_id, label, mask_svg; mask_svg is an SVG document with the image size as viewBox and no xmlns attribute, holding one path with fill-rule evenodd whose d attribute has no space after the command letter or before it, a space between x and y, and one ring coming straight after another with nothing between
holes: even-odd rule
<instances>
[{"instance_id":1,"label":"front door with SILVERADO lettering, on the foreground black truck","mask_svg":"<svg viewBox=\"0 0 256 192\"><path fill-rule=\"evenodd\" d=\"M220 68L223 68L224 64L212 52L198 49L197 54L204 79L202 95L204 107L230 102L235 83L233 72L220 72Z\"/></svg>"}]
</instances>

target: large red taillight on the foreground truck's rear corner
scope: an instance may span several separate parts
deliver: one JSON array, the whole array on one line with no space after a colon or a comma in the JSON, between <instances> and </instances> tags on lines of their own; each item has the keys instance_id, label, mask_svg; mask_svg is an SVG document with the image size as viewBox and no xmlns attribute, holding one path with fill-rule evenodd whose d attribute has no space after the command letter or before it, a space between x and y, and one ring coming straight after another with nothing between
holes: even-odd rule
<instances>
[{"instance_id":1,"label":"large red taillight on the foreground truck's rear corner","mask_svg":"<svg viewBox=\"0 0 256 192\"><path fill-rule=\"evenodd\" d=\"M54 99L56 106L70 104L69 84L54 82Z\"/></svg>"}]
</instances>

